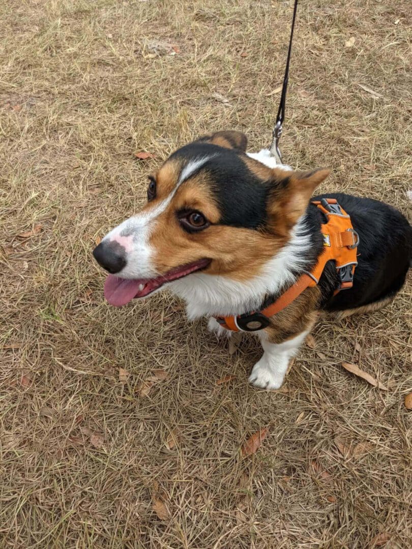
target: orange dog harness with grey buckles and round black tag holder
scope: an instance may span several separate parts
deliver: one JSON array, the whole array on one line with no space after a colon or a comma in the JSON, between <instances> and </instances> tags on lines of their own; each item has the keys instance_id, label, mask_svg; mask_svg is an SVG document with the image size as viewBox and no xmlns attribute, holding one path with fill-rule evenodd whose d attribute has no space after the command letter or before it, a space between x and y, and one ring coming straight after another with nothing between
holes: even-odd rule
<instances>
[{"instance_id":1,"label":"orange dog harness with grey buckles and round black tag holder","mask_svg":"<svg viewBox=\"0 0 412 549\"><path fill-rule=\"evenodd\" d=\"M327 222L321 225L324 251L319 256L316 266L310 273L300 276L291 288L265 309L238 316L216 317L222 328L233 332L255 332L266 328L269 326L271 316L285 309L303 290L319 283L325 265L330 260L335 261L341 281L335 294L341 290L352 288L353 273L358 265L358 233L352 227L349 215L339 206L335 198L322 198L320 201L313 201L312 204L318 206L327 216Z\"/></svg>"}]
</instances>

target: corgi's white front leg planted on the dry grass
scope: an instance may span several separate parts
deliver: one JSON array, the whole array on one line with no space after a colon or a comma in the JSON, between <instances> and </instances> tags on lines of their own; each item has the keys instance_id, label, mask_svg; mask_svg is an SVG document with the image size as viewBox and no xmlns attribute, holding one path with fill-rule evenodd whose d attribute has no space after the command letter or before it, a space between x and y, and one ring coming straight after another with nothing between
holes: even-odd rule
<instances>
[{"instance_id":1,"label":"corgi's white front leg planted on the dry grass","mask_svg":"<svg viewBox=\"0 0 412 549\"><path fill-rule=\"evenodd\" d=\"M249 382L260 389L279 389L285 379L289 360L296 355L309 330L282 343L270 343L266 333L260 337L263 356L253 366Z\"/></svg>"}]
</instances>

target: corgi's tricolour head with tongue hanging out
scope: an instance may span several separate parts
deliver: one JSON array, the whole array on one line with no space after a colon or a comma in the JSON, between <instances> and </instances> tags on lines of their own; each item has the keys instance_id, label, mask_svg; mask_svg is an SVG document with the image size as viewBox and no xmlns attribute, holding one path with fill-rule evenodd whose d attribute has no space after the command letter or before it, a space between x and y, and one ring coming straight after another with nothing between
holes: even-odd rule
<instances>
[{"instance_id":1,"label":"corgi's tricolour head with tongue hanging out","mask_svg":"<svg viewBox=\"0 0 412 549\"><path fill-rule=\"evenodd\" d=\"M93 251L111 273L105 296L112 305L200 270L248 281L285 246L329 171L269 167L269 157L248 156L246 145L243 133L217 132L177 150L149 176L147 205Z\"/></svg>"}]
</instances>

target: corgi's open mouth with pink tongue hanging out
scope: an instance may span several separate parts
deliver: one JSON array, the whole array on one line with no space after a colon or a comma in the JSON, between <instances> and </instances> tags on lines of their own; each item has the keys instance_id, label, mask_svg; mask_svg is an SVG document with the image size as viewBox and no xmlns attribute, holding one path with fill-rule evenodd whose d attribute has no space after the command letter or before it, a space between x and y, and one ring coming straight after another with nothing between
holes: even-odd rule
<instances>
[{"instance_id":1,"label":"corgi's open mouth with pink tongue hanging out","mask_svg":"<svg viewBox=\"0 0 412 549\"><path fill-rule=\"evenodd\" d=\"M129 279L109 275L104 283L104 297L110 305L121 307L129 303L133 298L144 298L167 282L172 282L204 269L209 265L210 261L210 259L199 259L193 261L193 263L175 267L156 278Z\"/></svg>"}]
</instances>

